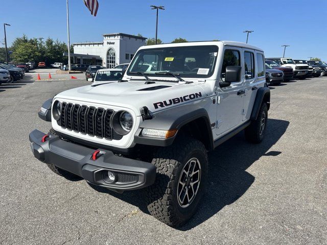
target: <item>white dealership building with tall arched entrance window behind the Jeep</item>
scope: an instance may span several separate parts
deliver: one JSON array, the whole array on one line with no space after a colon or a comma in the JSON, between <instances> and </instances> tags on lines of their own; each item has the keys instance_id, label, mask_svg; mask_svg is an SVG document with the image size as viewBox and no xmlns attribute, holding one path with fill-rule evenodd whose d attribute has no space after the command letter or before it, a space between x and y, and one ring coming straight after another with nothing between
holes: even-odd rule
<instances>
[{"instance_id":1,"label":"white dealership building with tall arched entrance window behind the Jeep","mask_svg":"<svg viewBox=\"0 0 327 245\"><path fill-rule=\"evenodd\" d=\"M129 63L139 47L146 44L147 38L124 33L104 34L102 42L74 43L74 64L102 65L112 68Z\"/></svg>"}]
</instances>

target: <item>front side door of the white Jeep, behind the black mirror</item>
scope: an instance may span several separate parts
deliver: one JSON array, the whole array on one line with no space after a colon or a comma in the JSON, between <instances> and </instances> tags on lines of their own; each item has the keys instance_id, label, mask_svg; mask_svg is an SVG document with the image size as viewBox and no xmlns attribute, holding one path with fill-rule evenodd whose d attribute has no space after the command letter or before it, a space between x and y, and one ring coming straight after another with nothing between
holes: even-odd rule
<instances>
[{"instance_id":1,"label":"front side door of the white Jeep, behind the black mirror","mask_svg":"<svg viewBox=\"0 0 327 245\"><path fill-rule=\"evenodd\" d=\"M226 66L243 66L242 48L225 47L221 66L220 82L224 82ZM244 68L242 68L244 74ZM223 135L238 127L243 112L243 81L235 81L228 87L218 86L217 127L216 134Z\"/></svg>"}]
</instances>

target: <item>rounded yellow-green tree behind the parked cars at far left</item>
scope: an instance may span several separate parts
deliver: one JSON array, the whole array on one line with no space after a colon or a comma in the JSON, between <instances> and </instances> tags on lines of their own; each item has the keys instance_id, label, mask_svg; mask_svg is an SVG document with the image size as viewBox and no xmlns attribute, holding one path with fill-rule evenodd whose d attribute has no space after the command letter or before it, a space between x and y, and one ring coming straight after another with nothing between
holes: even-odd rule
<instances>
[{"instance_id":1,"label":"rounded yellow-green tree behind the parked cars at far left","mask_svg":"<svg viewBox=\"0 0 327 245\"><path fill-rule=\"evenodd\" d=\"M31 43L20 43L15 47L12 54L13 61L18 62L29 62L30 60L38 60L40 53L36 46Z\"/></svg>"}]
</instances>

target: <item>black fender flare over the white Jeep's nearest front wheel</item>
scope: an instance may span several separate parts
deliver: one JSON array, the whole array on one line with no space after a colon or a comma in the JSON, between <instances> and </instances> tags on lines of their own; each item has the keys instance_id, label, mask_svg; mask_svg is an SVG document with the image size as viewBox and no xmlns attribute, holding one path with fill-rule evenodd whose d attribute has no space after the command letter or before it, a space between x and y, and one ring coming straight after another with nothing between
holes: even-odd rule
<instances>
[{"instance_id":1,"label":"black fender flare over the white Jeep's nearest front wheel","mask_svg":"<svg viewBox=\"0 0 327 245\"><path fill-rule=\"evenodd\" d=\"M136 144L146 144L155 146L169 146L171 145L177 134L168 139L145 137L141 135L143 128L159 129L159 130L180 130L184 125L196 119L203 118L206 129L209 135L209 150L214 149L213 133L211 129L211 122L207 111L198 105L178 106L162 110L152 114L152 119L141 122L136 134L134 135L134 142Z\"/></svg>"}]
</instances>

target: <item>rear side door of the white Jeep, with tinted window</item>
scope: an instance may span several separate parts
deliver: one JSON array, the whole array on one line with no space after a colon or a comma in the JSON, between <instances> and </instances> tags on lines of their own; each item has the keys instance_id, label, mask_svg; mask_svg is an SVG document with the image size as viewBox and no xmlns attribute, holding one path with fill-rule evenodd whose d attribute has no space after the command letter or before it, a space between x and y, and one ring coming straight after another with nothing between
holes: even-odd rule
<instances>
[{"instance_id":1,"label":"rear side door of the white Jeep, with tinted window","mask_svg":"<svg viewBox=\"0 0 327 245\"><path fill-rule=\"evenodd\" d=\"M256 74L255 74L255 61L254 61L254 50L249 50L248 48L243 48L244 57L244 95L243 103L244 108L242 112L242 121L248 120L251 115L251 108L253 107L256 91L258 90Z\"/></svg>"}]
</instances>

